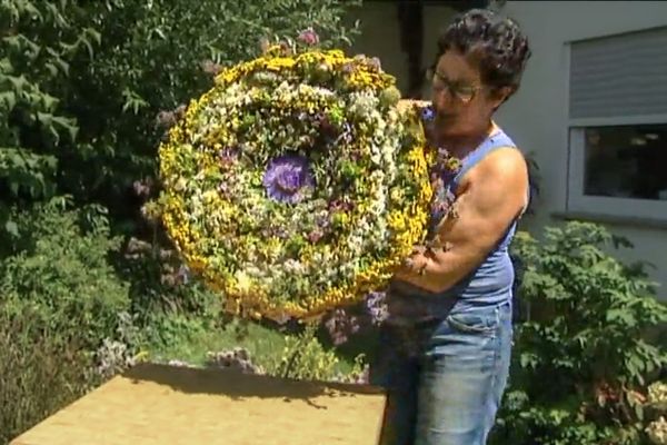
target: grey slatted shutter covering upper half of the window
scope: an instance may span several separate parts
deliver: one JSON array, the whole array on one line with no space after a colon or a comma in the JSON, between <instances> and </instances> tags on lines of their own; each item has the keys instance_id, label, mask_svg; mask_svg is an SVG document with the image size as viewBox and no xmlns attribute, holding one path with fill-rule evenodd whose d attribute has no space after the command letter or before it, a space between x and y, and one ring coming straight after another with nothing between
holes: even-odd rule
<instances>
[{"instance_id":1,"label":"grey slatted shutter covering upper half of the window","mask_svg":"<svg viewBox=\"0 0 667 445\"><path fill-rule=\"evenodd\" d=\"M667 28L578 41L570 118L667 113Z\"/></svg>"}]
</instances>

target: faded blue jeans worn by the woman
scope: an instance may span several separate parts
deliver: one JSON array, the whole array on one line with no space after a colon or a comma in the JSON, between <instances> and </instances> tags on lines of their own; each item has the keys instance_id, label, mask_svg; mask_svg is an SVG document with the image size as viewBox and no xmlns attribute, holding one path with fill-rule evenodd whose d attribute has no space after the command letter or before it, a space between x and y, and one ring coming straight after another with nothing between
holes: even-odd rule
<instances>
[{"instance_id":1,"label":"faded blue jeans worn by the woman","mask_svg":"<svg viewBox=\"0 0 667 445\"><path fill-rule=\"evenodd\" d=\"M380 445L485 445L509 374L511 305L382 327L371 383L385 386Z\"/></svg>"}]
</instances>

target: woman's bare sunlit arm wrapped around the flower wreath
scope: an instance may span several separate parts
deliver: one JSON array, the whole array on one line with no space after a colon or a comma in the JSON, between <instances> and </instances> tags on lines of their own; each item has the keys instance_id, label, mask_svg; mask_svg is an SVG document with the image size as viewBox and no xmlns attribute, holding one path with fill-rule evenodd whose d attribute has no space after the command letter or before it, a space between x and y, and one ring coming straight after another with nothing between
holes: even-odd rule
<instances>
[{"instance_id":1,"label":"woman's bare sunlit arm wrapped around the flower wreath","mask_svg":"<svg viewBox=\"0 0 667 445\"><path fill-rule=\"evenodd\" d=\"M458 218L439 229L447 249L418 249L410 257L412 267L396 273L398 279L441 293L478 267L526 207L526 161L519 150L499 148L471 169L460 187Z\"/></svg>"}]
</instances>

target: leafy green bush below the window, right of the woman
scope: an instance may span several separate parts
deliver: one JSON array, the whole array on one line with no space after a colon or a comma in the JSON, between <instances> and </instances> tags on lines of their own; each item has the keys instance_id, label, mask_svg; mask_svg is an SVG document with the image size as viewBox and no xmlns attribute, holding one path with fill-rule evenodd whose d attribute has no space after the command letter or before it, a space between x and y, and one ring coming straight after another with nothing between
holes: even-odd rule
<instances>
[{"instance_id":1,"label":"leafy green bush below the window, right of the woman","mask_svg":"<svg viewBox=\"0 0 667 445\"><path fill-rule=\"evenodd\" d=\"M584 222L545 238L517 238L527 320L492 443L644 444L646 387L667 364L647 333L664 327L667 308L643 267L609 255L626 240Z\"/></svg>"}]
</instances>

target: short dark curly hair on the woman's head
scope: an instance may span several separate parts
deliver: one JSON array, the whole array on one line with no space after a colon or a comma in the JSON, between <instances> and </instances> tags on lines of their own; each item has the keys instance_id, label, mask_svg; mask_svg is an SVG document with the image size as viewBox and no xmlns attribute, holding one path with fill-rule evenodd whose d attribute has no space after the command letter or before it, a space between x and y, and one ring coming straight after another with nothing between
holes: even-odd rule
<instances>
[{"instance_id":1,"label":"short dark curly hair on the woman's head","mask_svg":"<svg viewBox=\"0 0 667 445\"><path fill-rule=\"evenodd\" d=\"M431 69L450 49L478 65L481 80L492 89L518 88L530 58L528 39L516 21L488 9L472 9L457 16L438 39L438 53Z\"/></svg>"}]
</instances>

